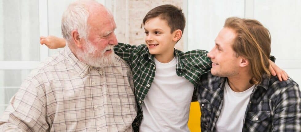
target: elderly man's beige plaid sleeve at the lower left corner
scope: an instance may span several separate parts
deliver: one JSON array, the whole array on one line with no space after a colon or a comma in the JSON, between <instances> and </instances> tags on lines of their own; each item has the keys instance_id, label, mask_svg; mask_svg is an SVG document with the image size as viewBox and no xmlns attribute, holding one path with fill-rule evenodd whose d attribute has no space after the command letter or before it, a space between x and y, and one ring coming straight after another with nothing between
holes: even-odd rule
<instances>
[{"instance_id":1,"label":"elderly man's beige plaid sleeve at the lower left corner","mask_svg":"<svg viewBox=\"0 0 301 132\"><path fill-rule=\"evenodd\" d=\"M46 108L34 84L37 79L26 78L17 94L10 100L10 105L4 111L0 120L1 131L46 131L49 126L46 122Z\"/></svg>"}]
</instances>

